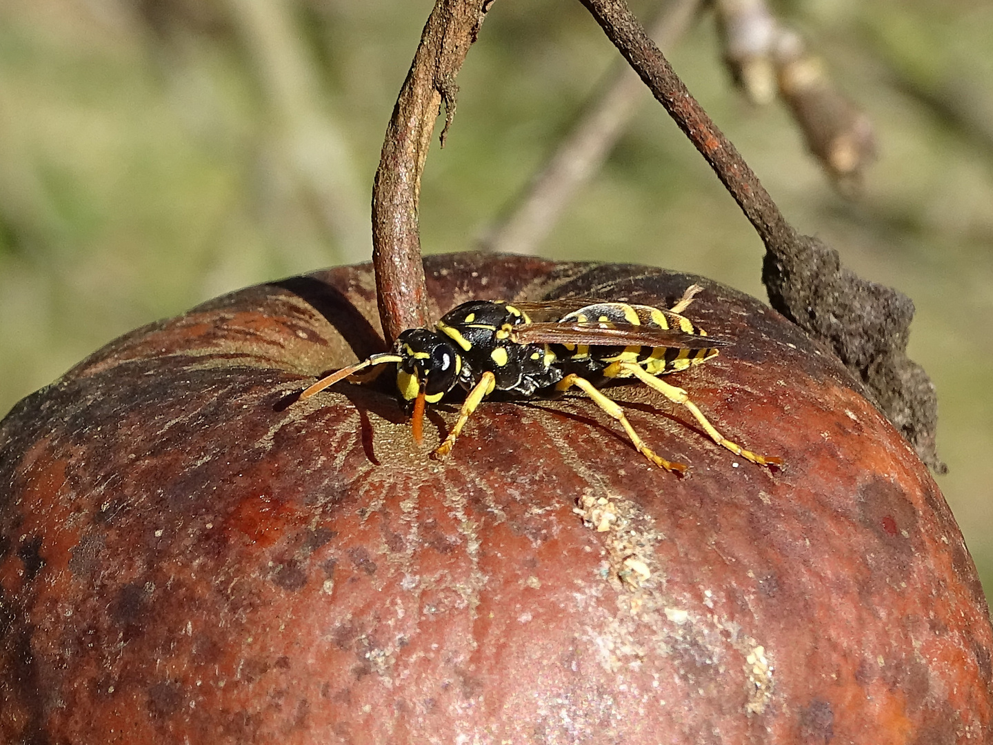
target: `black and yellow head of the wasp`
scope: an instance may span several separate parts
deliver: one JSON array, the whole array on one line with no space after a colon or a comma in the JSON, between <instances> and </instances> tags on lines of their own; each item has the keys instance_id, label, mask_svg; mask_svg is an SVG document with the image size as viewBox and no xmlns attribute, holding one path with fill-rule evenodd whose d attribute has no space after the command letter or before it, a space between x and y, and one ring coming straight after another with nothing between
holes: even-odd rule
<instances>
[{"instance_id":1,"label":"black and yellow head of the wasp","mask_svg":"<svg viewBox=\"0 0 993 745\"><path fill-rule=\"evenodd\" d=\"M410 329L396 340L403 360L396 370L396 385L408 401L423 386L430 403L455 387L462 373L462 357L447 337L427 329Z\"/></svg>"}]
</instances>

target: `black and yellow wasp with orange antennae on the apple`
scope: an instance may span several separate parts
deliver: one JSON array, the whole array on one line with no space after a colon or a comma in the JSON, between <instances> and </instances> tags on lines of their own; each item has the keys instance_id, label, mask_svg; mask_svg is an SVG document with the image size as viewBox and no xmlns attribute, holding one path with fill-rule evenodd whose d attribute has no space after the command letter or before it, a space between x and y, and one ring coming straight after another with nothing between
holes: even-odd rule
<instances>
[{"instance_id":1,"label":"black and yellow wasp with orange antennae on the apple","mask_svg":"<svg viewBox=\"0 0 993 745\"><path fill-rule=\"evenodd\" d=\"M633 377L684 406L718 445L753 463L781 467L780 458L753 453L724 437L684 389L660 379L710 360L727 345L682 315L701 290L690 286L668 309L590 299L512 304L472 300L446 313L433 329L402 332L391 351L321 378L300 398L366 368L395 364L396 387L408 403L413 401L412 433L420 443L426 404L460 385L469 392L455 425L433 453L442 458L495 390L528 398L576 387L621 423L651 463L685 472L684 464L667 461L648 448L624 409L600 390L607 381Z\"/></svg>"}]
</instances>

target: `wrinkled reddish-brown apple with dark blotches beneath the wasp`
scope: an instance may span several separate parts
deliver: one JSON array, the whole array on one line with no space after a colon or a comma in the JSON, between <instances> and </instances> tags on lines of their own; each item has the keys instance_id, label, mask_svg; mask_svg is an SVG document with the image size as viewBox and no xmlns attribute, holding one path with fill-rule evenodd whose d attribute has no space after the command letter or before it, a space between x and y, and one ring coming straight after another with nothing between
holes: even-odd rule
<instances>
[{"instance_id":1,"label":"wrinkled reddish-brown apple with dark blotches beneath the wasp","mask_svg":"<svg viewBox=\"0 0 993 745\"><path fill-rule=\"evenodd\" d=\"M993 742L961 533L830 354L698 277L425 266L436 315L701 282L734 345L667 380L785 468L638 384L609 392L687 477L581 396L486 401L436 463L457 401L418 448L389 374L294 400L383 348L368 265L223 296L0 424L0 742Z\"/></svg>"}]
</instances>

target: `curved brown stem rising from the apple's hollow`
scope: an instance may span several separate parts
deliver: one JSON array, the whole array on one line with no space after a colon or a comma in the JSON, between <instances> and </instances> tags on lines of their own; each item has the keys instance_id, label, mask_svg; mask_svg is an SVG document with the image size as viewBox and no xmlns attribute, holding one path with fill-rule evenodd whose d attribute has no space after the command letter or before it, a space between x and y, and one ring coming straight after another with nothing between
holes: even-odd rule
<instances>
[{"instance_id":1,"label":"curved brown stem rising from the apple's hollow","mask_svg":"<svg viewBox=\"0 0 993 745\"><path fill-rule=\"evenodd\" d=\"M427 290L417 227L421 173L435 120L446 107L442 144L455 113L455 76L493 0L437 0L386 128L372 188L372 262L387 342L427 326Z\"/></svg>"}]
</instances>

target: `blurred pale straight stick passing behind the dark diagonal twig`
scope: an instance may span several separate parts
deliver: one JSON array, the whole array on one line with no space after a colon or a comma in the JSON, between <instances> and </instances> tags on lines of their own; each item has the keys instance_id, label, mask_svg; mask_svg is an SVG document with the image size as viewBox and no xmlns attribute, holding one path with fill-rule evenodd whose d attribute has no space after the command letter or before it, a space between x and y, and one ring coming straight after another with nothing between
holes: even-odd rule
<instances>
[{"instance_id":1,"label":"blurred pale straight stick passing behind the dark diagonal twig","mask_svg":"<svg viewBox=\"0 0 993 745\"><path fill-rule=\"evenodd\" d=\"M652 24L659 47L670 47L685 33L701 0L675 0ZM579 188L603 165L643 102L644 84L621 63L580 115L572 130L509 210L480 238L480 247L497 253L529 254L547 237Z\"/></svg>"}]
</instances>

